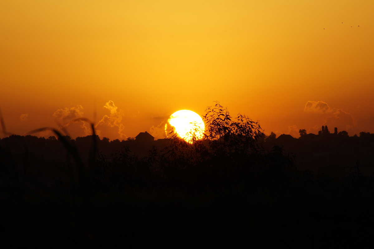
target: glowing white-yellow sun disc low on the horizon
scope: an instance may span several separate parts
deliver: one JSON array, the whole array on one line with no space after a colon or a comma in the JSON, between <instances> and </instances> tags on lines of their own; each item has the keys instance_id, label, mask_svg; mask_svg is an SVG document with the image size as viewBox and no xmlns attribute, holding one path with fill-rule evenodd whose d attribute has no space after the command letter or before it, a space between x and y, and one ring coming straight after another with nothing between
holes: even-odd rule
<instances>
[{"instance_id":1,"label":"glowing white-yellow sun disc low on the horizon","mask_svg":"<svg viewBox=\"0 0 374 249\"><path fill-rule=\"evenodd\" d=\"M165 124L166 136L175 133L189 143L192 143L194 139L202 139L204 131L205 124L202 118L199 114L190 110L176 111L170 115L168 122Z\"/></svg>"}]
</instances>

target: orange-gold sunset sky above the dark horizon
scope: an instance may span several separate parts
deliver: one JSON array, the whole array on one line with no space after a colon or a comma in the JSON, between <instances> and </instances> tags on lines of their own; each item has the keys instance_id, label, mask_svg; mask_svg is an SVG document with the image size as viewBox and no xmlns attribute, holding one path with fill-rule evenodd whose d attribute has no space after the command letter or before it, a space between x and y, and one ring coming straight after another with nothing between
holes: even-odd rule
<instances>
[{"instance_id":1,"label":"orange-gold sunset sky above the dark horizon","mask_svg":"<svg viewBox=\"0 0 374 249\"><path fill-rule=\"evenodd\" d=\"M170 114L218 100L266 133L374 132L373 11L368 0L2 0L1 111L20 135L96 110L101 136L161 138Z\"/></svg>"}]
</instances>

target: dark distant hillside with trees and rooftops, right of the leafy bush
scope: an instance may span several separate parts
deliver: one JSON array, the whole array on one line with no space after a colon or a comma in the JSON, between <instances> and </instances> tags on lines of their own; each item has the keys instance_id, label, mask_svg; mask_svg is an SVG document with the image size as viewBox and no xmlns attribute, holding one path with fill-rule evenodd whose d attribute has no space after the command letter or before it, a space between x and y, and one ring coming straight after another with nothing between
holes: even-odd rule
<instances>
[{"instance_id":1,"label":"dark distant hillside with trees and rooftops, right of the leafy bush","mask_svg":"<svg viewBox=\"0 0 374 249\"><path fill-rule=\"evenodd\" d=\"M365 174L374 173L373 149L374 134L360 132L359 136L349 136L346 131L334 133L328 131L327 126L322 126L318 135L306 133L300 129L300 137L292 138L290 135L280 135L276 138L275 133L266 136L266 148L272 145L281 145L282 148L296 156L296 163L301 169L309 169L315 172L347 171L352 165L359 163Z\"/></svg>"}]
</instances>

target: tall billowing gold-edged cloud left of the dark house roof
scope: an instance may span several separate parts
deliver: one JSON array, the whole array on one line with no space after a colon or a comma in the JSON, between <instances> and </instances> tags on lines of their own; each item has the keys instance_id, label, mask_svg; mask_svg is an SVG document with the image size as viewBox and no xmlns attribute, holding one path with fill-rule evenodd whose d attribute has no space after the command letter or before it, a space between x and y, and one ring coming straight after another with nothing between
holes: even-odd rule
<instances>
[{"instance_id":1,"label":"tall billowing gold-edged cloud left of the dark house roof","mask_svg":"<svg viewBox=\"0 0 374 249\"><path fill-rule=\"evenodd\" d=\"M125 126L121 123L123 117L125 116L124 112L122 110L119 110L111 100L105 103L104 108L110 111L110 115L104 115L102 119L96 124L96 133L101 136L102 133L104 133L104 130L109 133L110 131L108 131L108 128L115 128L120 138L127 138L127 136L123 133Z\"/></svg>"}]
</instances>

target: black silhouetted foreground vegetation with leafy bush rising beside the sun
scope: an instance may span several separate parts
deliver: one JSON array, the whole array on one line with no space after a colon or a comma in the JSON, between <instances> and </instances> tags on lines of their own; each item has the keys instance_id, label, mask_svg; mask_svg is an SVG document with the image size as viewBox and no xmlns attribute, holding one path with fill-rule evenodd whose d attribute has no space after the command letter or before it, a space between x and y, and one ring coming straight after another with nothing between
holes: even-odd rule
<instances>
[{"instance_id":1,"label":"black silhouetted foreground vegetation with leafy bush rising beside the sun","mask_svg":"<svg viewBox=\"0 0 374 249\"><path fill-rule=\"evenodd\" d=\"M359 160L326 173L261 144L217 104L207 136L136 141L1 139L3 248L359 246L374 235L374 178ZM269 148L268 148L269 147ZM297 155L296 155L297 156ZM372 161L373 162L373 161Z\"/></svg>"}]
</instances>

